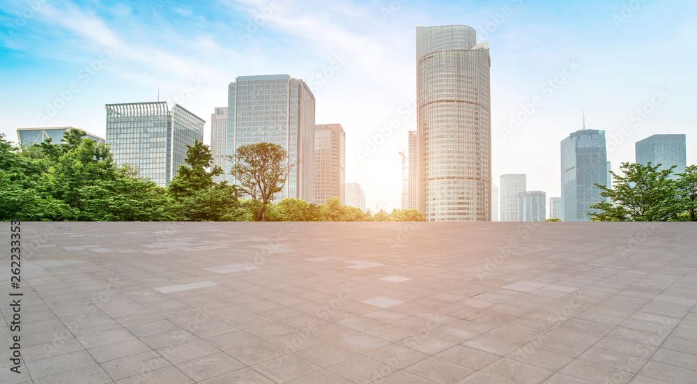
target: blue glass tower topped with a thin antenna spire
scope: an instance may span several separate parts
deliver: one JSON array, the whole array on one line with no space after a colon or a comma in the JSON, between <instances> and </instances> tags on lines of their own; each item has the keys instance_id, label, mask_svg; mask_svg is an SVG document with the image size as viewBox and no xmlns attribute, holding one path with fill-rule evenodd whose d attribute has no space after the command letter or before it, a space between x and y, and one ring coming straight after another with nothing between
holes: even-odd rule
<instances>
[{"instance_id":1,"label":"blue glass tower topped with a thin antenna spire","mask_svg":"<svg viewBox=\"0 0 697 384\"><path fill-rule=\"evenodd\" d=\"M605 131L583 129L561 141L562 221L590 221L590 206L607 201L595 186L607 185L607 171Z\"/></svg>"}]
</instances>

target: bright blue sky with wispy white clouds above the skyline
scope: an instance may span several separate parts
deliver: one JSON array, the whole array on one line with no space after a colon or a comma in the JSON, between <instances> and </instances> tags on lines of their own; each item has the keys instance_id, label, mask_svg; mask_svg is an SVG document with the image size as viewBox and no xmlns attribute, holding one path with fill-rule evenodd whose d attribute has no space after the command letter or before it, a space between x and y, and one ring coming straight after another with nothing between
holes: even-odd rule
<instances>
[{"instance_id":1,"label":"bright blue sky with wispy white clouds above the skyline","mask_svg":"<svg viewBox=\"0 0 697 384\"><path fill-rule=\"evenodd\" d=\"M0 132L105 136L104 105L177 102L206 120L238 76L309 84L316 123L346 132L346 182L400 208L416 129L415 26L461 24L491 46L492 178L560 195L560 141L605 130L614 171L634 143L687 135L697 164L694 1L0 1ZM390 128L390 125L394 128Z\"/></svg>"}]
</instances>

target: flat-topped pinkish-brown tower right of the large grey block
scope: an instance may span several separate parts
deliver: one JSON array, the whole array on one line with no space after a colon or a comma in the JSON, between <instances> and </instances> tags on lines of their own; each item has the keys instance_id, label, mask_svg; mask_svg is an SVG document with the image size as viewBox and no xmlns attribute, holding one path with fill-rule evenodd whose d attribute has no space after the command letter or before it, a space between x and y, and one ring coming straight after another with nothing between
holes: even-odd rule
<instances>
[{"instance_id":1,"label":"flat-topped pinkish-brown tower right of the large grey block","mask_svg":"<svg viewBox=\"0 0 697 384\"><path fill-rule=\"evenodd\" d=\"M314 203L346 200L346 135L341 124L314 126Z\"/></svg>"}]
</instances>

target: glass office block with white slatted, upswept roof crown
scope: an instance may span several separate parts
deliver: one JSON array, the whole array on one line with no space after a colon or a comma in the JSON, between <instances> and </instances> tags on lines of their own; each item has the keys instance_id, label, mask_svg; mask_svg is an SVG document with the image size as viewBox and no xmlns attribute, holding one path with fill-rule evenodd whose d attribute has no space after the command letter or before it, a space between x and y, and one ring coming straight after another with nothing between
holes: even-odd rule
<instances>
[{"instance_id":1,"label":"glass office block with white slatted, upswept roof crown","mask_svg":"<svg viewBox=\"0 0 697 384\"><path fill-rule=\"evenodd\" d=\"M166 101L107 104L107 144L117 164L133 164L140 175L166 187L188 148L204 141L204 119Z\"/></svg>"}]
</instances>

